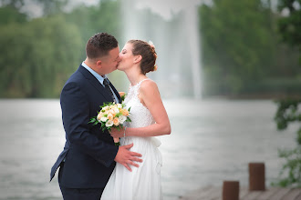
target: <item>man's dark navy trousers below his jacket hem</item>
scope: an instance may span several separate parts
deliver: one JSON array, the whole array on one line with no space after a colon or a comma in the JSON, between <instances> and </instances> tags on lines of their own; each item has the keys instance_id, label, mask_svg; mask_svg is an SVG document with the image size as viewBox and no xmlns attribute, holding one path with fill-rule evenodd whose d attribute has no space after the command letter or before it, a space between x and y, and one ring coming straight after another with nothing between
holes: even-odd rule
<instances>
[{"instance_id":1,"label":"man's dark navy trousers below his jacket hem","mask_svg":"<svg viewBox=\"0 0 301 200\"><path fill-rule=\"evenodd\" d=\"M64 162L61 163L58 172L58 183L61 171L64 170ZM104 188L67 188L59 184L64 200L99 200Z\"/></svg>"}]
</instances>

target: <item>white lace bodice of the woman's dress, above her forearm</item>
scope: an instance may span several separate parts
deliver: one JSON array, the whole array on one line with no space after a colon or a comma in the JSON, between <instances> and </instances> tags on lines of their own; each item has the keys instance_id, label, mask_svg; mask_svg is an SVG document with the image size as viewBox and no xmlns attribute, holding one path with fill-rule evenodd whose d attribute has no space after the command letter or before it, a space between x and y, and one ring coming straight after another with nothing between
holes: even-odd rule
<instances>
[{"instance_id":1,"label":"white lace bodice of the woman's dress, above her forearm","mask_svg":"<svg viewBox=\"0 0 301 200\"><path fill-rule=\"evenodd\" d=\"M130 85L129 93L124 99L124 103L127 108L130 107L130 123L127 123L128 127L145 127L155 123L150 110L141 104L139 95L140 85L143 81L152 81L150 78L141 80L137 85Z\"/></svg>"}]
</instances>

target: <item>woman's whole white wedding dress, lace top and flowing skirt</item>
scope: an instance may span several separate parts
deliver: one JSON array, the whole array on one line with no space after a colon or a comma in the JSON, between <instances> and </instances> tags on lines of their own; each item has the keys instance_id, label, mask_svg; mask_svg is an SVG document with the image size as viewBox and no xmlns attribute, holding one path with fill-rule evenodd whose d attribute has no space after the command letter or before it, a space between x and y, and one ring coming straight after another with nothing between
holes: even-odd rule
<instances>
[{"instance_id":1,"label":"woman's whole white wedding dress, lace top and flowing skirt","mask_svg":"<svg viewBox=\"0 0 301 200\"><path fill-rule=\"evenodd\" d=\"M154 124L154 119L148 108L140 103L139 88L143 81L151 81L149 78L140 81L137 85L130 86L129 93L124 103L130 107L131 122L128 127L144 127ZM140 166L130 166L132 172L126 167L116 164L110 175L101 200L158 200L161 194L161 165L162 158L158 146L161 142L155 137L126 136L120 140L121 145L130 145L130 151L142 155Z\"/></svg>"}]
</instances>

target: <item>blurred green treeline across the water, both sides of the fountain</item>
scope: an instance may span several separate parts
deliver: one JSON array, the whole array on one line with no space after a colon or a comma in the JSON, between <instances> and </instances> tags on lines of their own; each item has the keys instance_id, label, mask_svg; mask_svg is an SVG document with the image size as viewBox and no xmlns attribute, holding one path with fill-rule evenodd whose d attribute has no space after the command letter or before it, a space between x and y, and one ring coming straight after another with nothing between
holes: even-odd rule
<instances>
[{"instance_id":1,"label":"blurred green treeline across the water, both sides of the fountain","mask_svg":"<svg viewBox=\"0 0 301 200\"><path fill-rule=\"evenodd\" d=\"M2 1L0 97L58 97L91 35L121 38L120 0L66 13L67 3L36 0L44 15L31 19L21 12L24 0ZM214 0L199 11L205 95L301 91L299 52L281 43L278 19L284 16L268 0Z\"/></svg>"}]
</instances>

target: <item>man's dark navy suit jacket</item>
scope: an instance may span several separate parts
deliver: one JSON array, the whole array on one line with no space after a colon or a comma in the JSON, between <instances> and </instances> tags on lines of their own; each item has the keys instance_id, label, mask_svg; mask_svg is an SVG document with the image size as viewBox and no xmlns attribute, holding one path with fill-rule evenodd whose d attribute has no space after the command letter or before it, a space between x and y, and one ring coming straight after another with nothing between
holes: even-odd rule
<instances>
[{"instance_id":1,"label":"man's dark navy suit jacket","mask_svg":"<svg viewBox=\"0 0 301 200\"><path fill-rule=\"evenodd\" d=\"M110 85L120 100L113 85ZM99 105L113 102L111 95L94 75L79 65L70 76L60 95L66 145L51 168L50 181L58 166L64 161L59 173L59 183L68 188L104 187L116 163L119 150L108 132L102 132L100 125L88 124L92 116L98 115Z\"/></svg>"}]
</instances>

